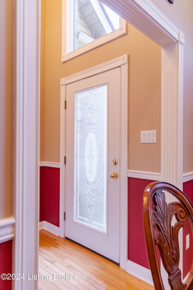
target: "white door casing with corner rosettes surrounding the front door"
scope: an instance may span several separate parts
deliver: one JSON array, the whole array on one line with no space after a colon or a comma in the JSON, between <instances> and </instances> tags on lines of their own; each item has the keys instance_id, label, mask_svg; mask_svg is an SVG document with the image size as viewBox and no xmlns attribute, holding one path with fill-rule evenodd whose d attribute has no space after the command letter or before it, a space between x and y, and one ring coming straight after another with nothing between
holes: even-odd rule
<instances>
[{"instance_id":1,"label":"white door casing with corner rosettes surrounding the front door","mask_svg":"<svg viewBox=\"0 0 193 290\"><path fill-rule=\"evenodd\" d=\"M127 265L127 124L128 124L128 55L123 55L109 62L100 64L72 76L62 78L60 98L60 237L65 235L64 211L65 211L65 100L66 85L81 79L97 75L111 69L120 67L120 266L126 269ZM67 104L68 106L68 104ZM67 156L68 158L68 156Z\"/></svg>"}]
</instances>

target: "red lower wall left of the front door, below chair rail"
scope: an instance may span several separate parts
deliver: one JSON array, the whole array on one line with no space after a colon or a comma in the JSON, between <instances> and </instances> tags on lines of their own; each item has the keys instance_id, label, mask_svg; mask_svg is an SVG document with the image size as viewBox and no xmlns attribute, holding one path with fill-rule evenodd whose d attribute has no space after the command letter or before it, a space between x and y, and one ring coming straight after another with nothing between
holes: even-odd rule
<instances>
[{"instance_id":1,"label":"red lower wall left of the front door, below chair rail","mask_svg":"<svg viewBox=\"0 0 193 290\"><path fill-rule=\"evenodd\" d=\"M40 221L59 227L60 169L40 167Z\"/></svg>"}]
</instances>

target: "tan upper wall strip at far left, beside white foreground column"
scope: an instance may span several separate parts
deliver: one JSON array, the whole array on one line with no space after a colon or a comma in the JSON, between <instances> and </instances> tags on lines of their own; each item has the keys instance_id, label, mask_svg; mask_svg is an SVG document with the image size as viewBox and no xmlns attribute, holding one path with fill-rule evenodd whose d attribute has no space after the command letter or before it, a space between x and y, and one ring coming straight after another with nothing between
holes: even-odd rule
<instances>
[{"instance_id":1,"label":"tan upper wall strip at far left, beside white foreground column","mask_svg":"<svg viewBox=\"0 0 193 290\"><path fill-rule=\"evenodd\" d=\"M13 2L0 1L0 219L12 215Z\"/></svg>"}]
</instances>

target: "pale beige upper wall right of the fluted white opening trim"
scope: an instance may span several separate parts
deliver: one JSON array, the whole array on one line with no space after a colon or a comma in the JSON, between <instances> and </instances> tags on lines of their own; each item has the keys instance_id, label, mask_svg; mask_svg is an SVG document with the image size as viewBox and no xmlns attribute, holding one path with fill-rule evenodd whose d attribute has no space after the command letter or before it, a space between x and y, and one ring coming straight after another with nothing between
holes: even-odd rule
<instances>
[{"instance_id":1,"label":"pale beige upper wall right of the fluted white opening trim","mask_svg":"<svg viewBox=\"0 0 193 290\"><path fill-rule=\"evenodd\" d=\"M172 22L185 34L184 46L184 108L183 108L183 172L193 171L193 1L152 0Z\"/></svg>"}]
</instances>

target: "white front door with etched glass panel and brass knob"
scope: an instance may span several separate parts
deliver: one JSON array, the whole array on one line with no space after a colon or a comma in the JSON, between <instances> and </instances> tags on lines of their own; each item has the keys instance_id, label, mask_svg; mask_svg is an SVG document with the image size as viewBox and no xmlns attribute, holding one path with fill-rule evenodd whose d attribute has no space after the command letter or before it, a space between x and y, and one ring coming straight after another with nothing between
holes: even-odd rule
<instances>
[{"instance_id":1,"label":"white front door with etched glass panel and brass knob","mask_svg":"<svg viewBox=\"0 0 193 290\"><path fill-rule=\"evenodd\" d=\"M68 84L66 101L65 237L119 263L120 67Z\"/></svg>"}]
</instances>

